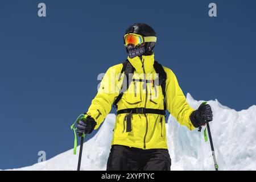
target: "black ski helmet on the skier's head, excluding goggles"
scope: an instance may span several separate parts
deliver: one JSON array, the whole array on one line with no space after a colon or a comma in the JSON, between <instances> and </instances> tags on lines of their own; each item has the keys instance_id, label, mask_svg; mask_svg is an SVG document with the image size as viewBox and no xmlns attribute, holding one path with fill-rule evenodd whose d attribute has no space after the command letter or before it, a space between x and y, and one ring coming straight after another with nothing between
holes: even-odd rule
<instances>
[{"instance_id":1,"label":"black ski helmet on the skier's head, excluding goggles","mask_svg":"<svg viewBox=\"0 0 256 182\"><path fill-rule=\"evenodd\" d=\"M154 31L154 29L146 23L134 23L129 28L127 28L127 30L125 32L125 34L131 34L131 33L139 34L142 36L155 36L156 37L156 32ZM155 47L155 42L146 42L145 46L146 46L146 52L144 53L144 55L151 55L152 50ZM127 48L126 48L126 52L128 52Z\"/></svg>"}]
</instances>

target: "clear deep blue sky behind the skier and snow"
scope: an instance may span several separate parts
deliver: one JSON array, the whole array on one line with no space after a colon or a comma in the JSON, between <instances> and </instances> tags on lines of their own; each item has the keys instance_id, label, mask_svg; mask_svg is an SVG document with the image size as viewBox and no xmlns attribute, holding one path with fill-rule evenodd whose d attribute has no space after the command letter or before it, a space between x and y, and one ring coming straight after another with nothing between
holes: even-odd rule
<instances>
[{"instance_id":1,"label":"clear deep blue sky behind the skier and snow","mask_svg":"<svg viewBox=\"0 0 256 182\"><path fill-rule=\"evenodd\" d=\"M38 17L38 3L47 17ZM208 16L210 2L217 18ZM236 110L256 104L256 1L1 1L0 169L73 147L69 126L97 92L97 75L126 59L122 36L144 22L155 58L184 93ZM84 149L86 150L86 148Z\"/></svg>"}]
</instances>

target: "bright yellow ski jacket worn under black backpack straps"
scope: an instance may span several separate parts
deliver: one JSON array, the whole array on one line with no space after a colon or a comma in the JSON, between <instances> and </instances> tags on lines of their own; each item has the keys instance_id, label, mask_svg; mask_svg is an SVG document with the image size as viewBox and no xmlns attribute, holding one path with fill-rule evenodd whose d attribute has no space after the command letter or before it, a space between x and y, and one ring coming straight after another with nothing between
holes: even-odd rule
<instances>
[{"instance_id":1,"label":"bright yellow ski jacket worn under black backpack straps","mask_svg":"<svg viewBox=\"0 0 256 182\"><path fill-rule=\"evenodd\" d=\"M154 54L150 56L138 56L129 62L135 68L133 78L135 80L148 78L155 79ZM112 104L119 95L123 76L120 75L123 65L117 64L110 67L103 77L96 97L92 100L87 113L97 122L95 129L104 121L112 109ZM180 89L176 76L171 69L163 67L167 74L166 80L166 106L167 110L181 125L189 130L193 127L189 116L194 111L186 101ZM144 74L145 73L145 74ZM129 88L118 102L118 110L146 107L151 109L164 109L164 96L162 87L151 82L131 81ZM168 148L166 125L164 115L159 114L132 114L131 131L126 132L126 115L118 114L114 126L112 144L121 144L129 147L143 149Z\"/></svg>"}]
</instances>

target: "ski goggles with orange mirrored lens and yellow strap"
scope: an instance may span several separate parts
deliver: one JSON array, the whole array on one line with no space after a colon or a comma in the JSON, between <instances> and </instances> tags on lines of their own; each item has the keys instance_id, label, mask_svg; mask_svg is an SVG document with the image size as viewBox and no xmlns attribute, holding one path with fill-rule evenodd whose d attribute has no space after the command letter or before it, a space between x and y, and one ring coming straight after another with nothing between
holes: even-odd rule
<instances>
[{"instance_id":1,"label":"ski goggles with orange mirrored lens and yellow strap","mask_svg":"<svg viewBox=\"0 0 256 182\"><path fill-rule=\"evenodd\" d=\"M123 36L125 46L133 44L134 46L139 46L145 42L156 42L156 36L142 36L139 34L125 34Z\"/></svg>"}]
</instances>

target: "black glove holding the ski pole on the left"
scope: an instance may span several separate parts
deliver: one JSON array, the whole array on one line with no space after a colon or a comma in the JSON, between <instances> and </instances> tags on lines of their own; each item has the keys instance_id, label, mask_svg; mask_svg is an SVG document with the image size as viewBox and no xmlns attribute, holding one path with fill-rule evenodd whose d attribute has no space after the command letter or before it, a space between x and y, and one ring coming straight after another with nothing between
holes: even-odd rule
<instances>
[{"instance_id":1,"label":"black glove holding the ski pole on the left","mask_svg":"<svg viewBox=\"0 0 256 182\"><path fill-rule=\"evenodd\" d=\"M82 134L90 134L92 133L94 127L96 126L96 122L95 120L90 117L90 115L88 115L88 117L86 117L86 119L84 120L80 120L79 123L77 123L77 135L79 135L79 137L82 136Z\"/></svg>"}]
</instances>

